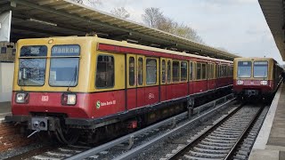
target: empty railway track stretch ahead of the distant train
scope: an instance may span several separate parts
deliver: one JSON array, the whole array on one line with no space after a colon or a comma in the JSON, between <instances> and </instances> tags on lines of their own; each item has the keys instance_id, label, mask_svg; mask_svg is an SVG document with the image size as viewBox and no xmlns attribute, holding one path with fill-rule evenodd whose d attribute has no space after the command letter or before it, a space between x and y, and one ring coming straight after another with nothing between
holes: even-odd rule
<instances>
[{"instance_id":1,"label":"empty railway track stretch ahead of the distant train","mask_svg":"<svg viewBox=\"0 0 285 160\"><path fill-rule=\"evenodd\" d=\"M236 108L161 159L247 159L266 112L261 106Z\"/></svg>"}]
</instances>

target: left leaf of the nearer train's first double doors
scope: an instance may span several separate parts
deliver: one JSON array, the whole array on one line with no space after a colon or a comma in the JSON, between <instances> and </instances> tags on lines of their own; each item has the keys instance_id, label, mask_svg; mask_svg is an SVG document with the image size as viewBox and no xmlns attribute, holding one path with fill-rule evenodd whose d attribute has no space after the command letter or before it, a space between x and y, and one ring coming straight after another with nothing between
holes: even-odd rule
<instances>
[{"instance_id":1,"label":"left leaf of the nearer train's first double doors","mask_svg":"<svg viewBox=\"0 0 285 160\"><path fill-rule=\"evenodd\" d=\"M136 55L126 55L126 108L136 108Z\"/></svg>"}]
</instances>

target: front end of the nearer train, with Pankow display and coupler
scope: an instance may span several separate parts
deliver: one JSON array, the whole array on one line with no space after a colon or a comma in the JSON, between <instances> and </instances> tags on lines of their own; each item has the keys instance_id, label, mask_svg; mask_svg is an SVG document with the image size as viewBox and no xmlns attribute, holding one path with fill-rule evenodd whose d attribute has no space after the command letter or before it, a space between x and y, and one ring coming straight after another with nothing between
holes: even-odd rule
<instances>
[{"instance_id":1,"label":"front end of the nearer train, with Pankow display and coupler","mask_svg":"<svg viewBox=\"0 0 285 160\"><path fill-rule=\"evenodd\" d=\"M88 92L92 44L91 37L72 36L18 41L12 116L5 119L34 132L54 132L63 143L75 141L64 118L90 118L82 92Z\"/></svg>"}]
</instances>

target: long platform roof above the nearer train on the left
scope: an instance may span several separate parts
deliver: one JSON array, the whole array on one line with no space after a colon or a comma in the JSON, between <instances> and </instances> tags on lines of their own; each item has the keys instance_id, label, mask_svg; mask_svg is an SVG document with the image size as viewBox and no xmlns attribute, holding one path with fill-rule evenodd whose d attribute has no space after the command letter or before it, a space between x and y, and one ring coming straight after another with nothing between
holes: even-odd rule
<instances>
[{"instance_id":1,"label":"long platform roof above the nearer train on the left","mask_svg":"<svg viewBox=\"0 0 285 160\"><path fill-rule=\"evenodd\" d=\"M232 60L239 57L70 0L2 0L0 12L12 11L11 41L49 36L97 36L179 52Z\"/></svg>"}]
</instances>

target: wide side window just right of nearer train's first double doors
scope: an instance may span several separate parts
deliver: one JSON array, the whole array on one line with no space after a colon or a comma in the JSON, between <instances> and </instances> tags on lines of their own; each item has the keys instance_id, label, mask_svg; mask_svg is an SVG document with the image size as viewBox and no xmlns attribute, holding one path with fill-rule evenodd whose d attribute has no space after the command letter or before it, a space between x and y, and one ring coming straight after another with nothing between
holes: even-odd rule
<instances>
[{"instance_id":1,"label":"wide side window just right of nearer train's first double doors","mask_svg":"<svg viewBox=\"0 0 285 160\"><path fill-rule=\"evenodd\" d=\"M157 84L157 60L146 60L146 84Z\"/></svg>"}]
</instances>

